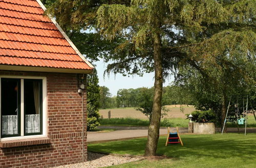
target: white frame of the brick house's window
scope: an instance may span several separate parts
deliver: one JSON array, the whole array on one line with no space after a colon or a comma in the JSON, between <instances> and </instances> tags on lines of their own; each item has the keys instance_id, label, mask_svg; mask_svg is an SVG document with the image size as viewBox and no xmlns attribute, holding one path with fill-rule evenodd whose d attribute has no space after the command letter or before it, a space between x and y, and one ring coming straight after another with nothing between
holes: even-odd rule
<instances>
[{"instance_id":1,"label":"white frame of the brick house's window","mask_svg":"<svg viewBox=\"0 0 256 168\"><path fill-rule=\"evenodd\" d=\"M0 75L0 102L1 101L1 79L2 78L13 78L13 79L20 79L20 136L14 137L0 137L1 141L11 141L17 139L29 139L29 138L40 138L40 137L47 137L47 78L41 76L5 76ZM24 79L42 79L42 134L41 135L27 135L24 136ZM1 105L0 103L0 116L1 114ZM0 128L2 128L2 121L0 120ZM1 135L0 129L0 135Z\"/></svg>"}]
</instances>

